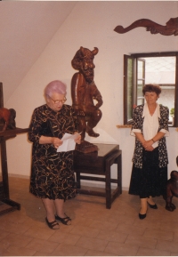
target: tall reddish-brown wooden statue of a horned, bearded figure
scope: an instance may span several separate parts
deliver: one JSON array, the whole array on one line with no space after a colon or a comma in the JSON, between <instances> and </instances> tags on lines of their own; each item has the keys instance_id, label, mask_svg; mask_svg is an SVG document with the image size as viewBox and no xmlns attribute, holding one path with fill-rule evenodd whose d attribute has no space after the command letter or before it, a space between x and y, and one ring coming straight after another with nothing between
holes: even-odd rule
<instances>
[{"instance_id":1,"label":"tall reddish-brown wooden statue of a horned, bearded figure","mask_svg":"<svg viewBox=\"0 0 178 257\"><path fill-rule=\"evenodd\" d=\"M100 135L93 131L102 116L100 109L102 105L101 92L93 81L93 69L95 68L93 59L97 53L97 47L90 51L81 46L71 61L72 67L78 70L71 80L72 106L76 111L79 132L82 136L82 142L77 145L77 150L85 153L97 150L96 146L85 141L85 133L92 137ZM94 105L93 100L97 101L96 105Z\"/></svg>"}]
</instances>

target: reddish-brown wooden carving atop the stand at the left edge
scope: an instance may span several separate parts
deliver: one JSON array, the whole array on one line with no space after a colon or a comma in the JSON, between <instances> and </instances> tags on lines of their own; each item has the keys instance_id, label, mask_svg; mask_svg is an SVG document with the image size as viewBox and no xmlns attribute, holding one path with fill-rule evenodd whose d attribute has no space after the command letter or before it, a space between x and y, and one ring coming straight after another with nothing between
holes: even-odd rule
<instances>
[{"instance_id":1,"label":"reddish-brown wooden carving atop the stand at the left edge","mask_svg":"<svg viewBox=\"0 0 178 257\"><path fill-rule=\"evenodd\" d=\"M4 132L6 129L15 129L15 117L16 111L13 108L0 108L0 121L4 123L3 130Z\"/></svg>"}]
</instances>

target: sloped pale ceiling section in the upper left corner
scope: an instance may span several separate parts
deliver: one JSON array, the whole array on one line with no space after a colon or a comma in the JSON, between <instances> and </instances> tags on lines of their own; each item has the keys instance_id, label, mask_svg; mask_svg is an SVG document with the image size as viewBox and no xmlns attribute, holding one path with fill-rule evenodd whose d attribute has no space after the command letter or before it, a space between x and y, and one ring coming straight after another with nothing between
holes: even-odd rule
<instances>
[{"instance_id":1,"label":"sloped pale ceiling section in the upper left corner","mask_svg":"<svg viewBox=\"0 0 178 257\"><path fill-rule=\"evenodd\" d=\"M0 2L0 82L4 105L77 2Z\"/></svg>"}]
</instances>

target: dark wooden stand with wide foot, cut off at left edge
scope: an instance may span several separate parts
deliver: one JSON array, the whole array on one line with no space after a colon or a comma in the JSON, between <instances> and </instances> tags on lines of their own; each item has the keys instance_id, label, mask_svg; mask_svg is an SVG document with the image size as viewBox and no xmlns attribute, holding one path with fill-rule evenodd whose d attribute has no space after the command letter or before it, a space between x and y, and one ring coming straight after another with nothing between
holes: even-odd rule
<instances>
[{"instance_id":1,"label":"dark wooden stand with wide foot, cut off at left edge","mask_svg":"<svg viewBox=\"0 0 178 257\"><path fill-rule=\"evenodd\" d=\"M6 155L6 143L5 141L16 137L19 133L27 133L28 128L20 129L16 128L13 130L6 130L0 132L0 148L1 148L1 166L2 166L2 178L0 181L0 215L13 210L20 210L20 204L12 201L9 197L9 181L8 181L8 169L7 169L7 155Z\"/></svg>"}]
</instances>

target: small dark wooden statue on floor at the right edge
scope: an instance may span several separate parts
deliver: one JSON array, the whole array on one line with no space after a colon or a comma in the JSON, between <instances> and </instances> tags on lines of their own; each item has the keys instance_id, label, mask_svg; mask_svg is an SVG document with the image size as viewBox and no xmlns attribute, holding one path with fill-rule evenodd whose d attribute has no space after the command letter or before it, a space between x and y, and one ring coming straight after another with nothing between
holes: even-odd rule
<instances>
[{"instance_id":1,"label":"small dark wooden statue on floor at the right edge","mask_svg":"<svg viewBox=\"0 0 178 257\"><path fill-rule=\"evenodd\" d=\"M178 165L178 157L176 157L176 163ZM178 172L171 172L171 179L166 183L166 210L173 212L176 209L172 203L173 197L178 197Z\"/></svg>"}]
</instances>

